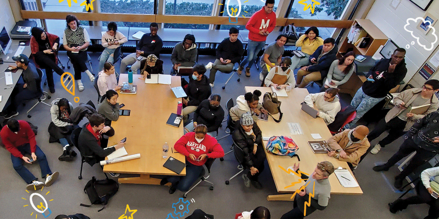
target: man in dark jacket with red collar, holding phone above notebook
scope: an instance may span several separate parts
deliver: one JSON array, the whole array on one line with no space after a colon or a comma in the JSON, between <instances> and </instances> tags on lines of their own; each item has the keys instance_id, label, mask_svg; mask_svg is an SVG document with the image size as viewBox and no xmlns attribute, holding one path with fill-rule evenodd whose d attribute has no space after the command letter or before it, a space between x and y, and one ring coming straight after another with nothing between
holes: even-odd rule
<instances>
[{"instance_id":1,"label":"man in dark jacket with red collar, holding phone above notebook","mask_svg":"<svg viewBox=\"0 0 439 219\"><path fill-rule=\"evenodd\" d=\"M111 137L114 135L114 129L105 126L105 119L101 114L94 113L88 117L89 122L83 125L81 133L79 133L78 146L81 148L82 156L93 156L93 159L87 161L91 166L105 159L115 150L122 148L125 142L119 141L115 147L106 148L106 143L102 135ZM112 177L119 177L119 173L110 173Z\"/></svg>"}]
</instances>

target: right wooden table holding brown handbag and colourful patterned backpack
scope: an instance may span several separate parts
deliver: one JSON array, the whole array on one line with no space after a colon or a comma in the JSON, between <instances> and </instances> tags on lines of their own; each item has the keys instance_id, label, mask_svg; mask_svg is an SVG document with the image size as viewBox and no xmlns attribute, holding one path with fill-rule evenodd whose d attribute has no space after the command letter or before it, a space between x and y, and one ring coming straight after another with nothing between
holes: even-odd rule
<instances>
[{"instance_id":1,"label":"right wooden table holding brown handbag and colourful patterned backpack","mask_svg":"<svg viewBox=\"0 0 439 219\"><path fill-rule=\"evenodd\" d=\"M270 88L247 86L245 87L245 92L253 92L256 89L260 90L262 94L271 92ZM308 95L308 90L305 88L294 88L288 93L288 97L279 97L279 100L282 102L281 111L284 113L284 117L280 123L274 122L272 118L269 118L268 121L258 120L258 126L262 131L262 136L291 136L294 142L299 145L297 155L300 157L300 170L308 175L313 173L318 162L325 160L331 162L335 168L342 166L351 172L346 162L339 161L334 157L328 157L327 154L314 154L312 149L309 147L308 141L327 140L331 138L332 135L322 118L318 117L317 119L314 119L301 110L300 103L303 102L303 99L305 99L306 95ZM278 115L274 115L274 117L278 118ZM291 134L287 123L299 123L303 134ZM311 137L311 133L318 133L323 139L313 139ZM263 141L263 143L265 145L267 141ZM295 162L298 162L298 159L296 157L290 158L289 156L273 155L271 152L266 152L266 155L277 191L280 193L289 193L269 195L267 200L293 201L293 199L291 199L291 193L294 193L296 189L299 189L304 182L300 181L300 183L289 187L291 186L291 183L297 182L299 177L295 175L288 175L284 172L284 170L281 170L279 166L282 166L286 170L289 166L293 166ZM331 194L363 194L363 191L360 187L343 187L338 182L335 173L329 176L329 181L331 183Z\"/></svg>"}]
</instances>

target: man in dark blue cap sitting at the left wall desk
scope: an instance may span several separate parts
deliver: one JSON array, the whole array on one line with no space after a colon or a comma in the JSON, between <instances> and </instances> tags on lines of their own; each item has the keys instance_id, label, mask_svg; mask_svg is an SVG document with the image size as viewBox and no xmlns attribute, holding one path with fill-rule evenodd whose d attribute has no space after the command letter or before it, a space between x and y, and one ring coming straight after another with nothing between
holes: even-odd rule
<instances>
[{"instance_id":1,"label":"man in dark blue cap sitting at the left wall desk","mask_svg":"<svg viewBox=\"0 0 439 219\"><path fill-rule=\"evenodd\" d=\"M0 116L5 119L12 118L18 115L17 108L22 102L34 99L40 96L40 86L38 83L41 83L41 78L38 75L38 71L34 64L29 63L29 58L20 54L16 57L12 57L12 60L15 61L17 66L9 66L13 69L20 68L23 69L23 81L24 84L16 84L14 90L12 90L11 95L9 96L8 101L5 105L5 110L0 113Z\"/></svg>"}]
</instances>

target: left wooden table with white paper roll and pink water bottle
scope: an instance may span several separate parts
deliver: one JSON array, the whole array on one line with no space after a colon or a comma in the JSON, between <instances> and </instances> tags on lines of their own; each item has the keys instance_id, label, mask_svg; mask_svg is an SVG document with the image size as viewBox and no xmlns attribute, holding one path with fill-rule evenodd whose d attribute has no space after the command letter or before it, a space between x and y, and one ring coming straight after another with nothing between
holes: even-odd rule
<instances>
[{"instance_id":1,"label":"left wooden table with white paper roll and pink water bottle","mask_svg":"<svg viewBox=\"0 0 439 219\"><path fill-rule=\"evenodd\" d=\"M180 77L172 76L172 87L180 86ZM119 84L128 81L128 74L120 74ZM176 113L177 102L169 85L145 84L137 74L133 75L133 85L137 85L137 94L119 94L119 103L123 109L130 109L130 116L120 116L112 122L115 135L109 138L108 145L126 139L128 155L140 153L139 159L112 163L104 166L104 172L133 173L140 177L119 178L119 183L160 184L153 175L178 175L163 167L166 159L162 158L162 146L169 145L169 156L185 162L184 155L172 153L171 148L183 136L183 125L173 127L166 124L171 113ZM175 152L176 150L173 149ZM180 175L186 175L186 169Z\"/></svg>"}]
</instances>

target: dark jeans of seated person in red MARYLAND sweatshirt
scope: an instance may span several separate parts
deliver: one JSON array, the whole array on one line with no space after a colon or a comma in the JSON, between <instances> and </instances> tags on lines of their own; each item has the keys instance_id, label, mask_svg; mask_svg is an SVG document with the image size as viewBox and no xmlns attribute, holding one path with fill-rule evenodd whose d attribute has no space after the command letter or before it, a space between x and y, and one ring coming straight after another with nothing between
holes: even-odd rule
<instances>
[{"instance_id":1,"label":"dark jeans of seated person in red MARYLAND sweatshirt","mask_svg":"<svg viewBox=\"0 0 439 219\"><path fill-rule=\"evenodd\" d=\"M196 166L189 161L186 161L186 176L170 176L167 177L168 182L174 184L178 183L177 189L183 192L188 191L195 183L203 171L203 166Z\"/></svg>"}]
</instances>

